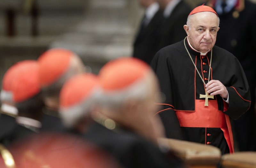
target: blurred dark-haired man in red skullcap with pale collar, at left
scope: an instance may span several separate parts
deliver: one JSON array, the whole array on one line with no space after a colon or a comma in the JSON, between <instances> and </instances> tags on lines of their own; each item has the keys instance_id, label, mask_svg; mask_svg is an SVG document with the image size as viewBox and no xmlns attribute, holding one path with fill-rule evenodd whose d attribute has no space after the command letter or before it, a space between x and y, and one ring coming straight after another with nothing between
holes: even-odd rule
<instances>
[{"instance_id":1,"label":"blurred dark-haired man in red skullcap with pale collar, at left","mask_svg":"<svg viewBox=\"0 0 256 168\"><path fill-rule=\"evenodd\" d=\"M15 82L12 83L11 92L12 101L19 112L14 127L0 139L7 147L14 141L39 132L43 114L44 103L40 94L38 62L25 60L18 64L18 73L13 79Z\"/></svg>"}]
</instances>

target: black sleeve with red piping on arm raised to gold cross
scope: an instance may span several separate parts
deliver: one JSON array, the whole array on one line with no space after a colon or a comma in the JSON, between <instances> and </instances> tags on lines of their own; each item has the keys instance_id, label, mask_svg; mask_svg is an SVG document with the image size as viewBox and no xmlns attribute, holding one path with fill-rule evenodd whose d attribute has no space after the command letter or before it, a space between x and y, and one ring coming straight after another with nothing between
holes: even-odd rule
<instances>
[{"instance_id":1,"label":"black sleeve with red piping on arm raised to gold cross","mask_svg":"<svg viewBox=\"0 0 256 168\"><path fill-rule=\"evenodd\" d=\"M230 86L226 87L229 95L228 109L224 109L224 113L232 119L238 119L243 115L251 105L250 89L244 74L244 70L239 61L235 58L235 66L232 71L234 74L230 80Z\"/></svg>"}]
</instances>

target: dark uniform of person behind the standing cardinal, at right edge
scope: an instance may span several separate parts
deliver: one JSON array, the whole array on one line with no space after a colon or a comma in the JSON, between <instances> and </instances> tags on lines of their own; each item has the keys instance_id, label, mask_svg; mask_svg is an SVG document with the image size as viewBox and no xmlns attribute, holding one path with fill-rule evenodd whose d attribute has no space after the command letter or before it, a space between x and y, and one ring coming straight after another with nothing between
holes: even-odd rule
<instances>
[{"instance_id":1,"label":"dark uniform of person behind the standing cardinal, at right edge","mask_svg":"<svg viewBox=\"0 0 256 168\"><path fill-rule=\"evenodd\" d=\"M244 7L238 18L233 17L234 8L228 13L219 14L220 30L216 45L234 54L244 69L251 90L252 104L245 115L234 121L234 128L239 150L256 151L256 4L245 0Z\"/></svg>"}]
</instances>

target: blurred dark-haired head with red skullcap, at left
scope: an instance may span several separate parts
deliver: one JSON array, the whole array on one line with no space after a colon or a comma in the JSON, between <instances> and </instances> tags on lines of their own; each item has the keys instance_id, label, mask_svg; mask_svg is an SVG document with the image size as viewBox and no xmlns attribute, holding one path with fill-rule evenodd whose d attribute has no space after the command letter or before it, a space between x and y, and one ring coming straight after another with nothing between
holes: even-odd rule
<instances>
[{"instance_id":1,"label":"blurred dark-haired head with red skullcap, at left","mask_svg":"<svg viewBox=\"0 0 256 168\"><path fill-rule=\"evenodd\" d=\"M12 101L18 108L18 116L40 120L44 106L39 77L38 62L35 60L20 61L17 75L13 80L11 91Z\"/></svg>"}]
</instances>

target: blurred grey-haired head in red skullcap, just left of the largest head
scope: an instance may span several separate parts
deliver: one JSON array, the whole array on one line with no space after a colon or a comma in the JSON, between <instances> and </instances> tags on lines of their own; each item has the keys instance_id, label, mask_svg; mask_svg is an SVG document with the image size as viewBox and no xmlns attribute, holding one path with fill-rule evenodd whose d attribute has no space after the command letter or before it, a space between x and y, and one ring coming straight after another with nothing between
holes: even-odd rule
<instances>
[{"instance_id":1,"label":"blurred grey-haired head in red skullcap, just left of the largest head","mask_svg":"<svg viewBox=\"0 0 256 168\"><path fill-rule=\"evenodd\" d=\"M93 74L78 74L69 79L60 92L60 117L69 129L84 133L91 122L99 80Z\"/></svg>"}]
</instances>

